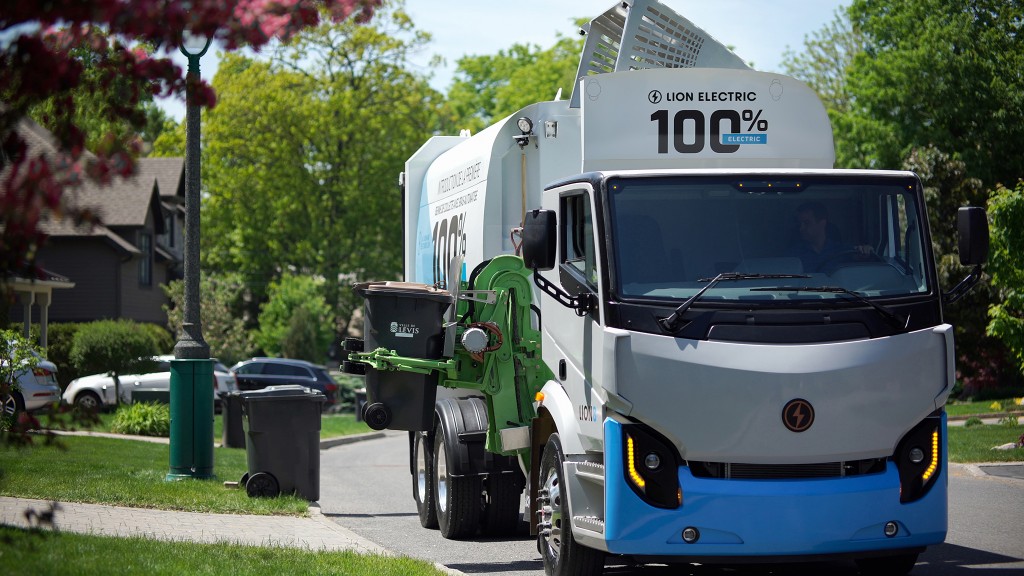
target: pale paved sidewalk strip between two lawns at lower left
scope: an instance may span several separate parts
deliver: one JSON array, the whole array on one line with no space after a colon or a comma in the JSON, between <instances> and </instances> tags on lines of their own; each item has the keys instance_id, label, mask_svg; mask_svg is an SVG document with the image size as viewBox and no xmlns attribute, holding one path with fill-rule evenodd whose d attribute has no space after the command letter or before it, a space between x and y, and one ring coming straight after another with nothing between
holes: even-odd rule
<instances>
[{"instance_id":1,"label":"pale paved sidewalk strip between two lawns at lower left","mask_svg":"<svg viewBox=\"0 0 1024 576\"><path fill-rule=\"evenodd\" d=\"M26 511L50 509L50 502L0 497L0 524L38 526ZM353 550L387 554L381 546L325 518L319 506L309 507L308 518L184 512L128 508L102 504L60 502L52 527L65 532L99 536L141 536L158 540L226 542L253 546L283 546L309 550Z\"/></svg>"}]
</instances>

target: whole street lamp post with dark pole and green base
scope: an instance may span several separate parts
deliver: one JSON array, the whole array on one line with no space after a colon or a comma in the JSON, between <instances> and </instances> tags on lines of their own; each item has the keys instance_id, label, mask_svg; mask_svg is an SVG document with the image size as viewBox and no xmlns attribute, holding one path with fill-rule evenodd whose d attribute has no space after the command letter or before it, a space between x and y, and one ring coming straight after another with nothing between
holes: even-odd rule
<instances>
[{"instance_id":1,"label":"whole street lamp post with dark pole and green base","mask_svg":"<svg viewBox=\"0 0 1024 576\"><path fill-rule=\"evenodd\" d=\"M213 477L213 362L200 318L200 107L195 87L199 59L212 39L185 32L184 311L171 362L170 472L167 480Z\"/></svg>"}]
</instances>

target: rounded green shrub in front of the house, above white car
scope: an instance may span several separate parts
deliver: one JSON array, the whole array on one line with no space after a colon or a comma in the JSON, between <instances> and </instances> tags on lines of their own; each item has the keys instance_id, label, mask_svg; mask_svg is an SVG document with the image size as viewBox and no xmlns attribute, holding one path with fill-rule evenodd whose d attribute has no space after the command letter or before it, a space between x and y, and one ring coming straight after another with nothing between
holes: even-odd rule
<instances>
[{"instance_id":1,"label":"rounded green shrub in front of the house, above white car","mask_svg":"<svg viewBox=\"0 0 1024 576\"><path fill-rule=\"evenodd\" d=\"M71 362L81 374L109 374L116 402L121 402L120 374L152 370L160 354L148 329L130 320L100 320L83 324L75 333Z\"/></svg>"}]
</instances>

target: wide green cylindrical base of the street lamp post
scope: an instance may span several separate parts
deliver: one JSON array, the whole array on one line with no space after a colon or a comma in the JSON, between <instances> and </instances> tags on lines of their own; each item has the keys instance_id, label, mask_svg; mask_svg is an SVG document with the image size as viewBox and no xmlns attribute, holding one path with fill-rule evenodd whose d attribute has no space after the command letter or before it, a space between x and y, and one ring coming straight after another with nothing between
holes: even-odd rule
<instances>
[{"instance_id":1,"label":"wide green cylindrical base of the street lamp post","mask_svg":"<svg viewBox=\"0 0 1024 576\"><path fill-rule=\"evenodd\" d=\"M213 478L213 361L171 362L171 471L167 480Z\"/></svg>"}]
</instances>

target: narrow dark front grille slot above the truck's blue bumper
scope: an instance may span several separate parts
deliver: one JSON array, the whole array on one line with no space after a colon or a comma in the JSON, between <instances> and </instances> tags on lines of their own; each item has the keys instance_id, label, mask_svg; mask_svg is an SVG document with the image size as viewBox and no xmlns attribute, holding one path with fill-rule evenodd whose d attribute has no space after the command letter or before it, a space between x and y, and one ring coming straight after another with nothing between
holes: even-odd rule
<instances>
[{"instance_id":1,"label":"narrow dark front grille slot above the truck's blue bumper","mask_svg":"<svg viewBox=\"0 0 1024 576\"><path fill-rule=\"evenodd\" d=\"M690 461L690 472L696 478L729 480L793 480L809 478L845 478L881 474L886 469L885 458L818 462L811 464L745 464L738 462Z\"/></svg>"}]
</instances>

